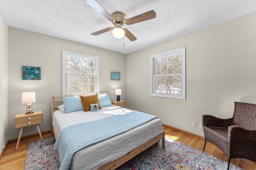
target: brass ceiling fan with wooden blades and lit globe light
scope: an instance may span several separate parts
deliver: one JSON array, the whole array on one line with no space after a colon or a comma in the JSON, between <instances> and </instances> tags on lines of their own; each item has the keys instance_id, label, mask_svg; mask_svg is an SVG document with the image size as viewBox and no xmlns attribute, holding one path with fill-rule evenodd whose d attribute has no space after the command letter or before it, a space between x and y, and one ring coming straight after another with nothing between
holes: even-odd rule
<instances>
[{"instance_id":1,"label":"brass ceiling fan with wooden blades and lit globe light","mask_svg":"<svg viewBox=\"0 0 256 170\"><path fill-rule=\"evenodd\" d=\"M125 35L128 39L130 39L130 41L135 41L137 38L128 29L122 29L122 25L132 25L134 23L156 18L156 12L154 12L154 10L151 10L134 16L132 18L126 19L126 16L122 12L114 12L112 15L110 15L96 0L86 0L86 2L115 25L114 27L108 27L100 31L91 33L92 35L100 35L107 31L113 30L113 36L116 38L122 38Z\"/></svg>"}]
</instances>

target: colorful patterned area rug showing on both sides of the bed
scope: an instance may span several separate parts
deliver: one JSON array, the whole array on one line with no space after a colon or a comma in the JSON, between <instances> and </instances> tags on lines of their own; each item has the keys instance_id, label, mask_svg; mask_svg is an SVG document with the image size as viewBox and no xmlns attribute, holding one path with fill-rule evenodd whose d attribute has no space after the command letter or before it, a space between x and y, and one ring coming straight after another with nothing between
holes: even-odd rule
<instances>
[{"instance_id":1,"label":"colorful patterned area rug showing on both sides of the bed","mask_svg":"<svg viewBox=\"0 0 256 170\"><path fill-rule=\"evenodd\" d=\"M226 170L228 162L166 137L166 149L156 143L117 170ZM24 170L58 170L58 152L53 150L54 137L44 142L30 141ZM230 164L230 170L243 170Z\"/></svg>"}]
</instances>

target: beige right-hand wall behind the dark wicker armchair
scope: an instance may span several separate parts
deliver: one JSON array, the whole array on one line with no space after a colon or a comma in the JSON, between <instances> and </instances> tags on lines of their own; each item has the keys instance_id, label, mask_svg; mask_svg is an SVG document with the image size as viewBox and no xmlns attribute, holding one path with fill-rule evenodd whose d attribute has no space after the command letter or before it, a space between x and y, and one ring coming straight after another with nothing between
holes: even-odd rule
<instances>
[{"instance_id":1,"label":"beige right-hand wall behind the dark wicker armchair","mask_svg":"<svg viewBox=\"0 0 256 170\"><path fill-rule=\"evenodd\" d=\"M255 20L253 12L126 55L127 106L203 136L203 114L229 118L234 101L256 104ZM181 47L186 47L186 100L151 97L150 55Z\"/></svg>"}]
</instances>

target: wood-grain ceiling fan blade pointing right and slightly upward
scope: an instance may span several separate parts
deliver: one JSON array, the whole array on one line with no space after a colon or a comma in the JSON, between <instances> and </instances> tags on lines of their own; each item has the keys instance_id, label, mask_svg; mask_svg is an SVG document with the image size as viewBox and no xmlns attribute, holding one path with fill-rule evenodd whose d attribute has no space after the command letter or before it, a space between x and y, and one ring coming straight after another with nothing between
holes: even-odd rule
<instances>
[{"instance_id":1,"label":"wood-grain ceiling fan blade pointing right and slightly upward","mask_svg":"<svg viewBox=\"0 0 256 170\"><path fill-rule=\"evenodd\" d=\"M131 24L134 24L134 23L138 23L138 22L142 22L142 21L146 21L146 20L151 20L153 18L156 18L156 12L154 12L154 10L151 10L151 11L145 12L143 14L134 16L132 18L128 18L125 21L125 23L127 25L131 25Z\"/></svg>"}]
</instances>

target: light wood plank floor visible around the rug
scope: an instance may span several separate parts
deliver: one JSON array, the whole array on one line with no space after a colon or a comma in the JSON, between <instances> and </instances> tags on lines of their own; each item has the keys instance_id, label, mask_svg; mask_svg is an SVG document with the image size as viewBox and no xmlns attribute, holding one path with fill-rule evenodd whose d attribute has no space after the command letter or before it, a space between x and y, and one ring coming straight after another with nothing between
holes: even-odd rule
<instances>
[{"instance_id":1,"label":"light wood plank floor visible around the rug","mask_svg":"<svg viewBox=\"0 0 256 170\"><path fill-rule=\"evenodd\" d=\"M194 147L198 150L202 150L204 147L204 140L201 138L197 138L197 137L194 137L194 136L176 131L174 129L167 128L167 127L163 127L163 130L165 131L165 134L167 137L175 139L176 141L179 141L181 143ZM43 138L47 138L50 136L52 136L52 134L50 133L44 134ZM8 147L6 148L4 155L0 160L0 170L23 170L25 159L26 159L28 142L36 141L36 140L40 140L40 137L38 136L38 137L33 137L30 139L20 141L18 150L15 150L16 143L8 144ZM228 161L228 158L226 157L226 155L212 143L206 143L205 152L213 156L216 156L217 158L220 158L222 160ZM235 164L236 166L244 168L245 170L256 169L256 163L250 160L235 158L235 159L231 159L230 162L232 164Z\"/></svg>"}]
</instances>

